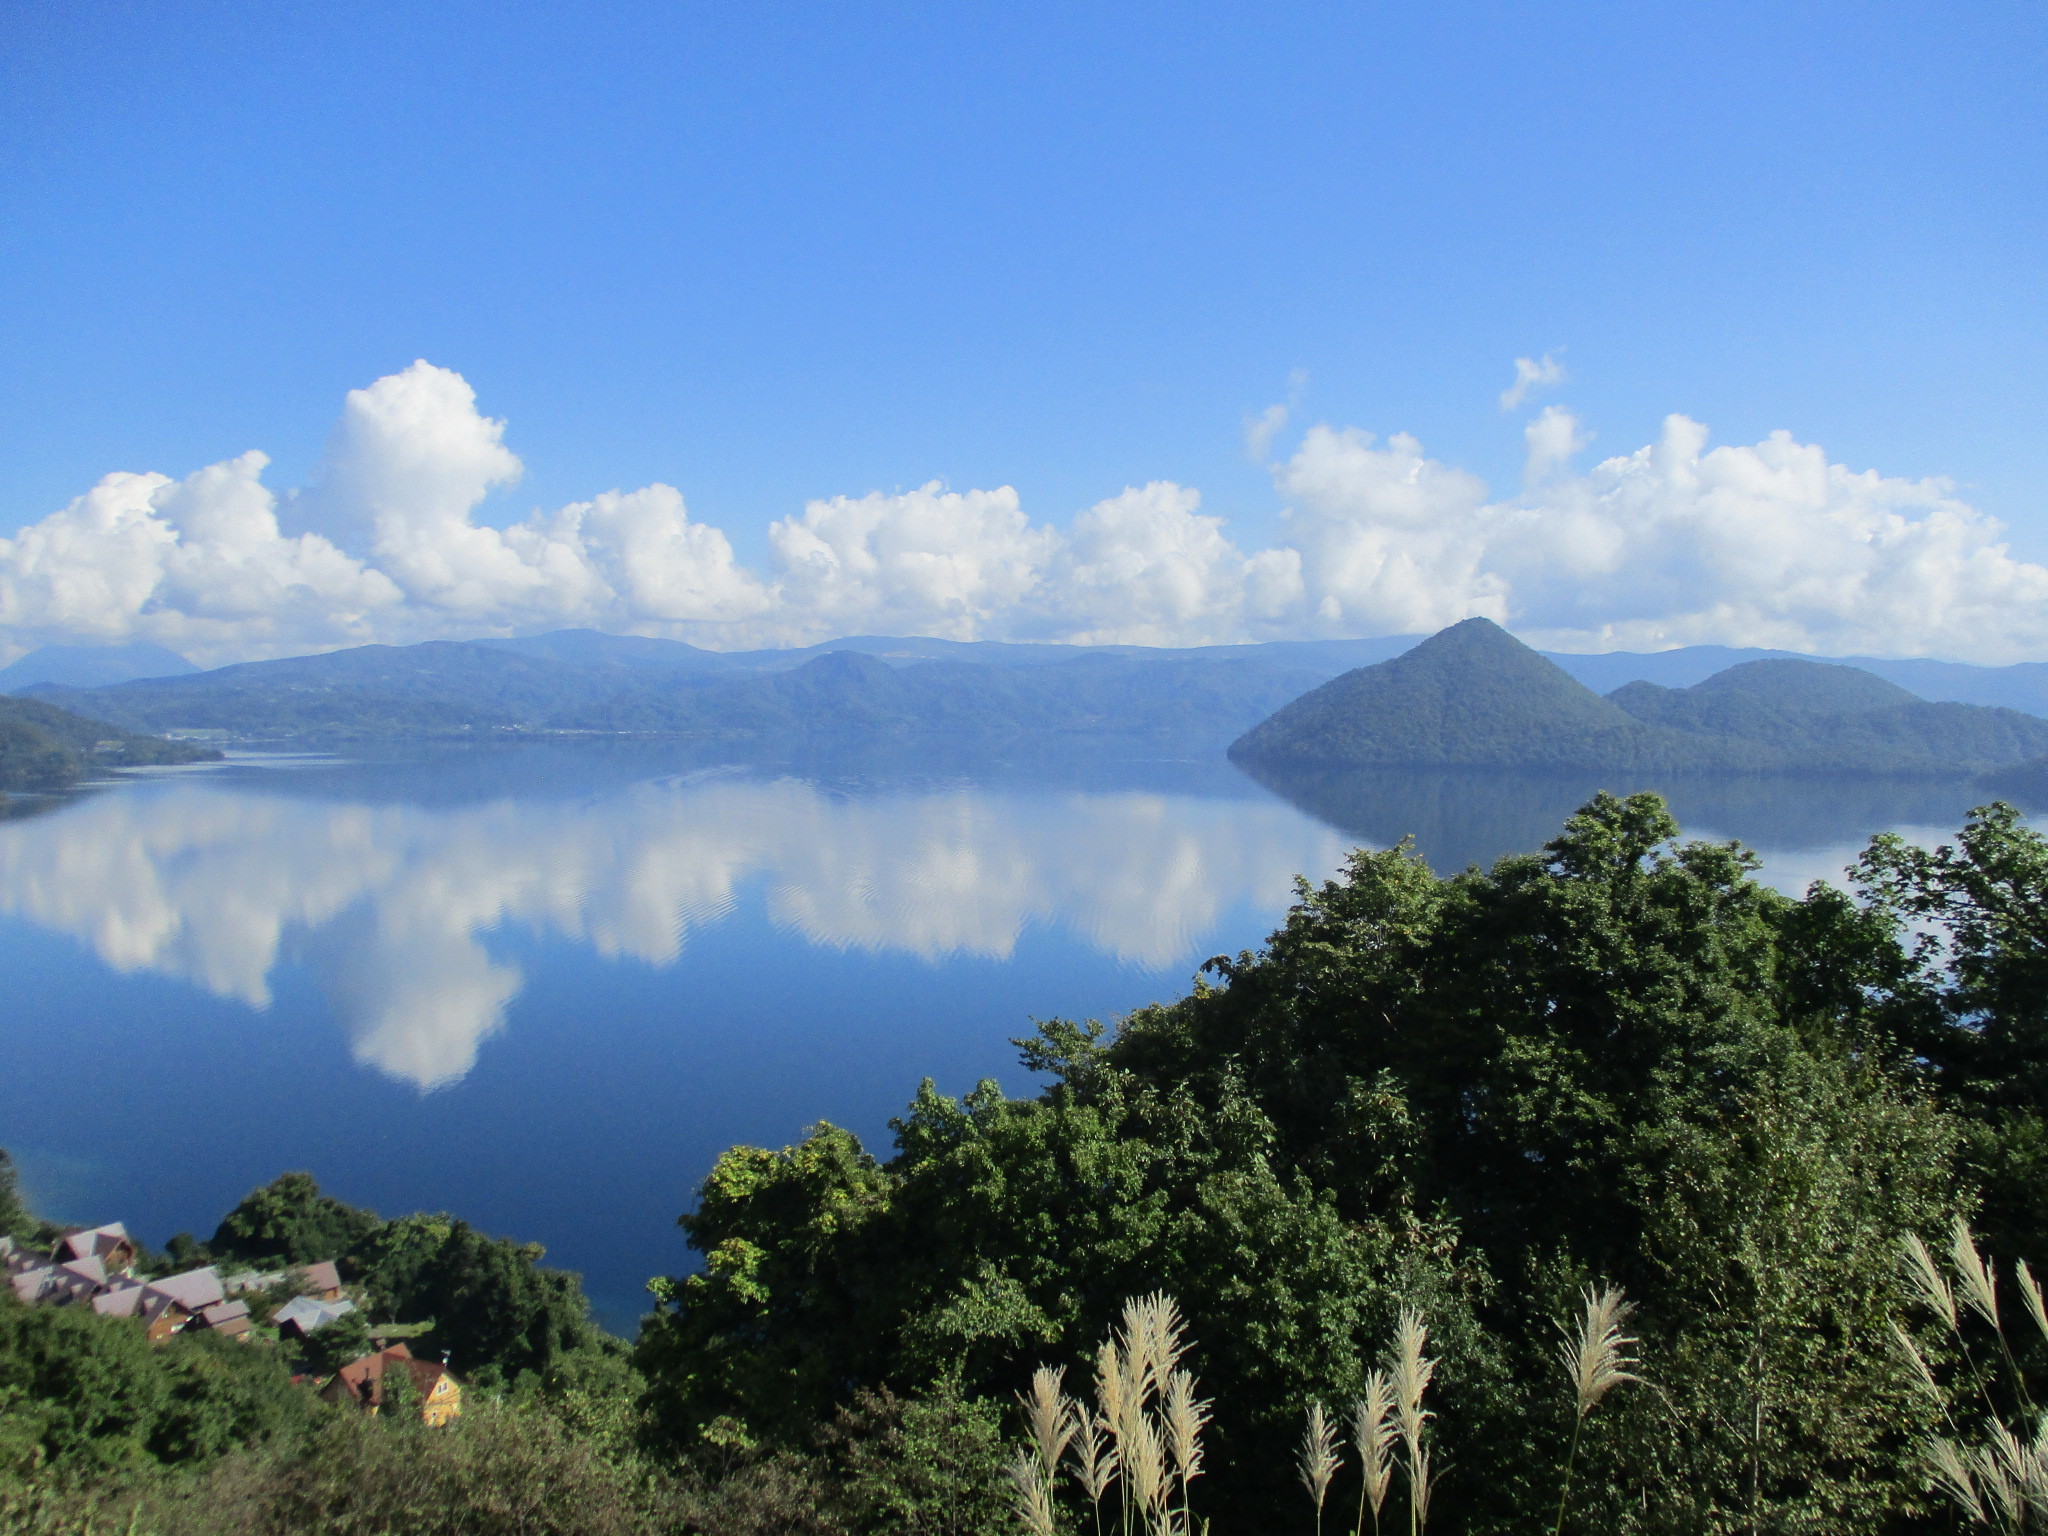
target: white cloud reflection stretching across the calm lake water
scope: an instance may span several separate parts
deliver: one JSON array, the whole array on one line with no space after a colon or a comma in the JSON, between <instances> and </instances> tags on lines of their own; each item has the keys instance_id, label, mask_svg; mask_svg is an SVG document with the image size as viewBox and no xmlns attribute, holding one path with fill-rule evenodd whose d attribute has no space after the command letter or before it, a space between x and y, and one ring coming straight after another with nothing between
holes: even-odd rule
<instances>
[{"instance_id":1,"label":"white cloud reflection stretching across the calm lake water","mask_svg":"<svg viewBox=\"0 0 2048 1536\"><path fill-rule=\"evenodd\" d=\"M424 807L188 778L0 825L0 911L256 1010L303 954L354 1057L426 1090L469 1073L524 985L485 944L504 928L672 967L758 883L770 920L813 944L1001 961L1026 928L1063 926L1167 971L1237 905L1278 918L1294 874L1346 848L1274 801L1133 791L670 778Z\"/></svg>"}]
</instances>

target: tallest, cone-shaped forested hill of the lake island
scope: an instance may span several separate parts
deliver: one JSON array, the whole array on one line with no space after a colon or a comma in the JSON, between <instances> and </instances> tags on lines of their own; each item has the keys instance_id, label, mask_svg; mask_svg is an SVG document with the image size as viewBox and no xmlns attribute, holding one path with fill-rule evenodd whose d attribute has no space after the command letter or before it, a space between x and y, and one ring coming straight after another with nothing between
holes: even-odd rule
<instances>
[{"instance_id":1,"label":"tallest, cone-shaped forested hill of the lake island","mask_svg":"<svg viewBox=\"0 0 2048 1536\"><path fill-rule=\"evenodd\" d=\"M1303 694L1231 748L1321 768L1659 768L1698 748L1575 682L1489 618Z\"/></svg>"}]
</instances>

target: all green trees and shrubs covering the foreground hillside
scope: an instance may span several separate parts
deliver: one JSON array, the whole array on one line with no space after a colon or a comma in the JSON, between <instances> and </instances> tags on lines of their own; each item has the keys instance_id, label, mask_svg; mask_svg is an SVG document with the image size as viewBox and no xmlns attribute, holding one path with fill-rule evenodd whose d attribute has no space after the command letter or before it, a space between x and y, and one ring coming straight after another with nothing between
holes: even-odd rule
<instances>
[{"instance_id":1,"label":"all green trees and shrubs covering the foreground hillside","mask_svg":"<svg viewBox=\"0 0 2048 1536\"><path fill-rule=\"evenodd\" d=\"M1307 1530L1325 1501L1354 1530L1370 1485L1315 1432L1384 1403L1384 1370L1427 1413L1391 1452L1389 1530L1907 1536L1989 1524L1972 1501L2032 1528L2048 840L1989 805L1935 850L1874 840L1853 893L1755 868L1681 842L1653 795L1595 797L1491 870L1358 852L1188 995L1114 1034L1040 1024L1034 1098L924 1083L885 1157L829 1124L727 1151L682 1214L700 1266L651 1286L631 1358L547 1321L567 1313L516 1245L281 1180L209 1241L354 1255L367 1288L422 1286L393 1305L432 1307L436 1339L465 1307L535 1319L444 1335L475 1413L293 1407L248 1356L0 1296L0 1511L49 1536L88 1513L156 1536L1087 1532L1083 1489L1034 1470L1065 1452L1014 1458L1020 1395L1040 1423L1061 1380L1102 1397L1104 1339L1167 1292L1204 1458L1176 1489L1192 1524L1153 1501L1133 1532ZM1559 1360L1581 1317L1628 1378L1597 1413ZM1133 1454L1145 1434L1116 1430Z\"/></svg>"}]
</instances>

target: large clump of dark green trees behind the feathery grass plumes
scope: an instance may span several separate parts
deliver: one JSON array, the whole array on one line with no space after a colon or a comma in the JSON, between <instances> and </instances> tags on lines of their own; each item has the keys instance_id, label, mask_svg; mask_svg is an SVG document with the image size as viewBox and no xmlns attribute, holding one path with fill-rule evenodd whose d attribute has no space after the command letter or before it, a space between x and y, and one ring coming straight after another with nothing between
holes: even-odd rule
<instances>
[{"instance_id":1,"label":"large clump of dark green trees behind the feathery grass plumes","mask_svg":"<svg viewBox=\"0 0 2048 1536\"><path fill-rule=\"evenodd\" d=\"M1554 1319L1599 1278L1653 1389L1589 1436L1589 1530L1880 1524L1919 1487L1874 1343L1898 1239L1968 1198L1921 1065L1958 1004L1892 909L1753 868L1649 795L1491 872L1362 852L1114 1042L1042 1028L1038 1100L926 1085L887 1163L829 1126L727 1153L684 1217L705 1270L643 1331L657 1417L788 1444L860 1384L1008 1401L1165 1286L1219 1405L1212 1507L1253 1518L1409 1300L1458 1466L1436 1518L1509 1530L1571 1423Z\"/></svg>"}]
</instances>

